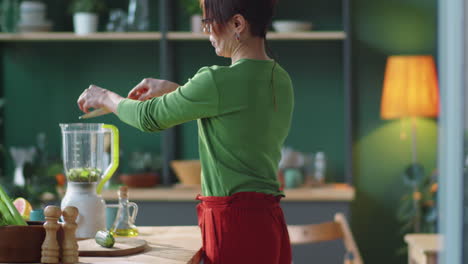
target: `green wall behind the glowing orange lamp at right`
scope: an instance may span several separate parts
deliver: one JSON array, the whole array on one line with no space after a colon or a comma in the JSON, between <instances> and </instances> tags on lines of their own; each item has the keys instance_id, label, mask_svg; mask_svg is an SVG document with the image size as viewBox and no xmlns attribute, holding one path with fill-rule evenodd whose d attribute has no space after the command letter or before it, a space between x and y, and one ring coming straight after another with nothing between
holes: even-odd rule
<instances>
[{"instance_id":1,"label":"green wall behind the glowing orange lamp at right","mask_svg":"<svg viewBox=\"0 0 468 264\"><path fill-rule=\"evenodd\" d=\"M380 119L380 97L388 55L435 55L437 1L352 2L357 191L352 229L366 263L406 263L405 256L396 254L404 246L396 210L411 145L410 140L399 139L399 121ZM420 119L417 129L419 161L429 174L436 167L437 122Z\"/></svg>"}]
</instances>

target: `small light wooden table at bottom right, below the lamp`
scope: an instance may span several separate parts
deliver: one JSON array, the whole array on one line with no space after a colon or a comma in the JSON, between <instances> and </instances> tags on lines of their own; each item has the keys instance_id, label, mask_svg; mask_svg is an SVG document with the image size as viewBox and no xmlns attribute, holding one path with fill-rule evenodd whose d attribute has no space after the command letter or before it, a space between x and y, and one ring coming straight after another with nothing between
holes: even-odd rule
<instances>
[{"instance_id":1,"label":"small light wooden table at bottom right, below the lamp","mask_svg":"<svg viewBox=\"0 0 468 264\"><path fill-rule=\"evenodd\" d=\"M441 248L438 234L408 234L405 241L409 264L437 264L437 253Z\"/></svg>"}]
</instances>

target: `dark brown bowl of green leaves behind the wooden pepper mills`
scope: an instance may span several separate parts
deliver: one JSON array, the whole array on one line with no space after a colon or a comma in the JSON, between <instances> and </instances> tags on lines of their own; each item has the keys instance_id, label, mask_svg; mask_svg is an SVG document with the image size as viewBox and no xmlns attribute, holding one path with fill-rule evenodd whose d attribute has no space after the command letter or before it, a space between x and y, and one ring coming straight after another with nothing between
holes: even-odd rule
<instances>
[{"instance_id":1,"label":"dark brown bowl of green leaves behind the wooden pepper mills","mask_svg":"<svg viewBox=\"0 0 468 264\"><path fill-rule=\"evenodd\" d=\"M28 221L27 226L0 227L0 263L40 263L45 238L44 222ZM63 229L58 230L59 245Z\"/></svg>"}]
</instances>

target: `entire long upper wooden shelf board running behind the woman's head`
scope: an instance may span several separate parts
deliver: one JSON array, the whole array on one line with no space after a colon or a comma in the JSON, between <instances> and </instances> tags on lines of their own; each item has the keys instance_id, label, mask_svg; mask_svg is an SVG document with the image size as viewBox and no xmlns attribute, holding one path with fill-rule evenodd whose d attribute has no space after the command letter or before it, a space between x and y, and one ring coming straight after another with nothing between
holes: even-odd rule
<instances>
[{"instance_id":1,"label":"entire long upper wooden shelf board running behind the woman's head","mask_svg":"<svg viewBox=\"0 0 468 264\"><path fill-rule=\"evenodd\" d=\"M268 40L343 40L346 34L342 31L311 31L277 33L269 32ZM76 35L72 32L41 32L41 33L0 33L0 42L22 41L154 41L161 40L160 32L98 32L89 35ZM208 35L192 32L169 32L169 40L200 41L208 40Z\"/></svg>"}]
</instances>

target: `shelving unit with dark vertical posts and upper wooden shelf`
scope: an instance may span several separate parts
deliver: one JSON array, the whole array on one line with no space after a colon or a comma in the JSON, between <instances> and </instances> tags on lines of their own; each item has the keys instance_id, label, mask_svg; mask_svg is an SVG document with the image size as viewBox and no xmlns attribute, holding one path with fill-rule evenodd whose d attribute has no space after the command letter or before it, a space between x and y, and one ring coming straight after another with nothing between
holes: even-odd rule
<instances>
[{"instance_id":1,"label":"shelving unit with dark vertical posts and upper wooden shelf","mask_svg":"<svg viewBox=\"0 0 468 264\"><path fill-rule=\"evenodd\" d=\"M343 28L332 28L327 31L310 31L310 32L294 32L294 33L277 33L269 32L267 39L273 42L287 43L293 41L308 43L330 41L332 44L342 43L343 45L343 81L344 81L344 153L345 153L345 181L352 182L352 87L351 87L351 40L350 40L350 5L349 0L342 0L342 17ZM45 33L18 33L5 34L0 33L0 43L15 44L27 42L145 42L157 43L159 48L159 56L154 60L155 64L159 64L159 77L169 80L174 80L175 72L175 47L184 42L194 43L208 41L208 35L203 33L192 33L175 31L174 17L176 16L176 8L173 0L159 0L158 2L159 23L158 28L152 32L122 32L122 33L107 33L99 32L90 35L75 35L72 32L45 32ZM67 29L65 29L67 30ZM54 44L55 45L55 44ZM133 44L132 44L133 45ZM135 44L139 45L139 44ZM146 45L146 44L143 44ZM208 44L209 45L209 44ZM281 44L283 45L283 44ZM294 45L294 44L293 44ZM303 45L303 44L299 44ZM326 44L328 45L328 43ZM294 46L292 46L294 47ZM173 179L169 162L173 159L180 158L177 154L179 141L177 133L179 128L172 128L162 134L161 147L165 157L163 183L170 184Z\"/></svg>"}]
</instances>

